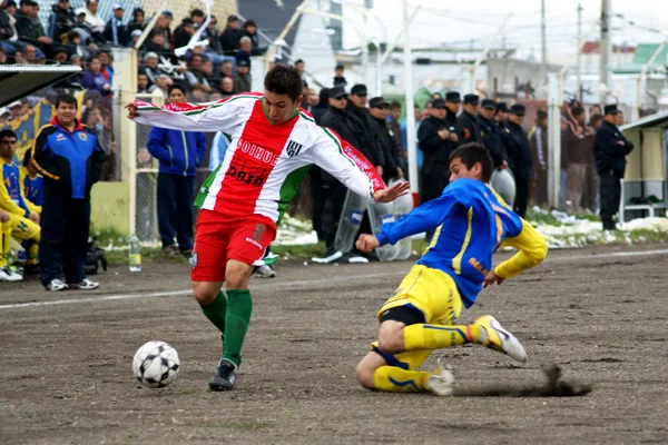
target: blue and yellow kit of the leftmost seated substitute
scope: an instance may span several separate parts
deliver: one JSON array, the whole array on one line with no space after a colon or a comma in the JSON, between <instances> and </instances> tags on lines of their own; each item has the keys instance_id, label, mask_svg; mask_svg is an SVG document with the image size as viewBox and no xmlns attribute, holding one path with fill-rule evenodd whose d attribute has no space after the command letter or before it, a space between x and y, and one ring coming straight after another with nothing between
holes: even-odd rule
<instances>
[{"instance_id":1,"label":"blue and yellow kit of the leftmost seated substitute","mask_svg":"<svg viewBox=\"0 0 668 445\"><path fill-rule=\"evenodd\" d=\"M37 253L40 241L40 227L28 219L30 214L39 214L40 208L23 195L20 181L19 167L13 162L1 161L0 180L3 187L0 187L0 209L9 214L9 221L2 225L2 259L0 266L7 266L7 255L9 254L9 237L23 243L27 251L27 263L37 264Z\"/></svg>"}]
</instances>

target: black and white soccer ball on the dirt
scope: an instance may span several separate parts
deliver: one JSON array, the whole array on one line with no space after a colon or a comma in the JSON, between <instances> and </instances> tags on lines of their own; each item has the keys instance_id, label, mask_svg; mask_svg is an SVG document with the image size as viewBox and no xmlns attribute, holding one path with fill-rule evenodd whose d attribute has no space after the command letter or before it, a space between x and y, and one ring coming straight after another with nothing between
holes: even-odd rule
<instances>
[{"instance_id":1,"label":"black and white soccer ball on the dirt","mask_svg":"<svg viewBox=\"0 0 668 445\"><path fill-rule=\"evenodd\" d=\"M176 349L165 342L148 342L132 359L132 372L141 385L164 388L178 375L180 360Z\"/></svg>"}]
</instances>

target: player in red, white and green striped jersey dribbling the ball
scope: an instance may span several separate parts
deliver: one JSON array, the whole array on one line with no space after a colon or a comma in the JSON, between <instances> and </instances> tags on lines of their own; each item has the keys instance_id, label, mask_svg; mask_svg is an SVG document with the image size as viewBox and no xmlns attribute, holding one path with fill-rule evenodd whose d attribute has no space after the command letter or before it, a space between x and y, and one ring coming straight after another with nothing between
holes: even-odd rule
<instances>
[{"instance_id":1,"label":"player in red, white and green striped jersey dribbling the ball","mask_svg":"<svg viewBox=\"0 0 668 445\"><path fill-rule=\"evenodd\" d=\"M382 180L365 175L346 156L345 141L299 110L302 78L294 67L274 67L264 86L264 93L247 92L212 103L158 108L136 101L127 106L128 117L138 123L223 131L229 139L222 164L195 200L202 211L190 258L195 299L224 339L223 358L209 380L212 390L235 385L253 310L248 279L254 267L263 264L276 225L311 165L369 199L389 202L407 192L405 182L382 188Z\"/></svg>"}]
</instances>

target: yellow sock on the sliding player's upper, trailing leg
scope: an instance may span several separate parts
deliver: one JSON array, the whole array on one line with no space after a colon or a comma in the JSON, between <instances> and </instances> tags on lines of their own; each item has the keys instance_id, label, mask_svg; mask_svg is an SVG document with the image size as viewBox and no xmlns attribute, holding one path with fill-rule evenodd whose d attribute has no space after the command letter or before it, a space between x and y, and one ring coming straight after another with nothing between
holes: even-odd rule
<instances>
[{"instance_id":1,"label":"yellow sock on the sliding player's upper, trailing leg","mask_svg":"<svg viewBox=\"0 0 668 445\"><path fill-rule=\"evenodd\" d=\"M411 325L403 329L405 350L433 350L466 343L479 343L481 326L478 325Z\"/></svg>"}]
</instances>

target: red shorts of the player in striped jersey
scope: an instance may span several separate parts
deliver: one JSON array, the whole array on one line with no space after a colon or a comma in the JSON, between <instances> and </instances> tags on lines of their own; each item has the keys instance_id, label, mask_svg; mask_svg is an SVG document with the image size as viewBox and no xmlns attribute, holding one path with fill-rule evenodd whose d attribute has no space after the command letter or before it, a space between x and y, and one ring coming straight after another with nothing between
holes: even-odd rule
<instances>
[{"instance_id":1,"label":"red shorts of the player in striped jersey","mask_svg":"<svg viewBox=\"0 0 668 445\"><path fill-rule=\"evenodd\" d=\"M259 266L276 237L276 225L262 215L229 219L203 209L197 218L190 265L193 281L225 281L229 259Z\"/></svg>"}]
</instances>

